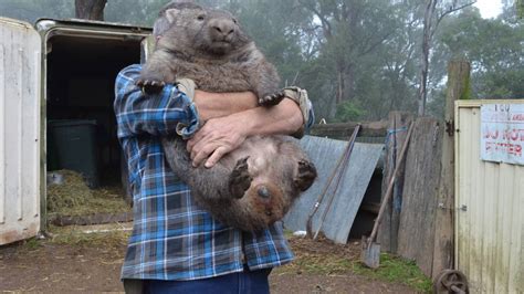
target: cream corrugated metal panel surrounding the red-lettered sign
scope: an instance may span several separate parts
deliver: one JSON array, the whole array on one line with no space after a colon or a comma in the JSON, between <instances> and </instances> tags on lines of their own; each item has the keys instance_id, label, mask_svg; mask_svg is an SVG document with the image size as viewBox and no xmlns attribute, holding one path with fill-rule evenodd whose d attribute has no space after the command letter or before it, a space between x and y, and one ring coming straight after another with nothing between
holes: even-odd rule
<instances>
[{"instance_id":1,"label":"cream corrugated metal panel surrounding the red-lettered sign","mask_svg":"<svg viewBox=\"0 0 524 294\"><path fill-rule=\"evenodd\" d=\"M455 264L472 293L524 293L524 166L480 159L480 106L493 103L524 101L455 107Z\"/></svg>"}]
</instances>

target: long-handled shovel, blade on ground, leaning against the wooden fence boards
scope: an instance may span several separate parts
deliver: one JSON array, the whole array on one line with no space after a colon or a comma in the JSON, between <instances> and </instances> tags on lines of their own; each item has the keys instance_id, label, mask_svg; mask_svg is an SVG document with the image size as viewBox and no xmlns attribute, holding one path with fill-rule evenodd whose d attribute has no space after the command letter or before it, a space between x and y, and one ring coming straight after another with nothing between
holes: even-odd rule
<instances>
[{"instance_id":1,"label":"long-handled shovel, blade on ground, leaning against the wooden fence boards","mask_svg":"<svg viewBox=\"0 0 524 294\"><path fill-rule=\"evenodd\" d=\"M411 137L413 125L415 124L411 123L409 126L408 134L406 135L406 141L404 143L402 149L400 150L400 156L398 158L391 179L389 180L388 188L382 199L382 203L380 204L380 210L378 211L377 219L375 220L375 225L373 225L371 234L369 235L369 238L366 238L365 235L363 235L363 241L361 241L363 249L360 253L360 260L361 262L364 262L364 264L366 264L367 266L371 269L377 269L378 265L380 264L380 244L375 243L375 238L377 237L378 225L380 224L380 221L382 220L382 214L384 214L384 211L386 210L386 204L388 203L389 198L391 198L395 179L397 178L400 164L402 162L406 150L408 149L409 138Z\"/></svg>"}]
</instances>

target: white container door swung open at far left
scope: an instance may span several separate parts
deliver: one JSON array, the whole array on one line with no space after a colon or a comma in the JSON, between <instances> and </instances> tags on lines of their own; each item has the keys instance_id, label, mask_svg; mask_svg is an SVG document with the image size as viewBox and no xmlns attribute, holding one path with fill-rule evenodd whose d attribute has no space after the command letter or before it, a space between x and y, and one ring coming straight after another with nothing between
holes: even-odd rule
<instances>
[{"instance_id":1,"label":"white container door swung open at far left","mask_svg":"<svg viewBox=\"0 0 524 294\"><path fill-rule=\"evenodd\" d=\"M0 18L0 245L40 229L41 41Z\"/></svg>"}]
</instances>

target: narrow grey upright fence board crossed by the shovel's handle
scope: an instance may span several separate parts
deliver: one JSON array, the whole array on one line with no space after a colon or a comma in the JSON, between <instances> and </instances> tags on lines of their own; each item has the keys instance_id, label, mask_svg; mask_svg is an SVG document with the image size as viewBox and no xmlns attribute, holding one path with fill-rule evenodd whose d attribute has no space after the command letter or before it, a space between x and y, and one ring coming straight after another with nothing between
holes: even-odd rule
<instances>
[{"instance_id":1,"label":"narrow grey upright fence board crossed by the shovel's handle","mask_svg":"<svg viewBox=\"0 0 524 294\"><path fill-rule=\"evenodd\" d=\"M400 154L400 149L406 140L407 127L412 120L412 115L409 113L391 112L389 114L389 127L388 127L388 146L386 146L386 160L385 170L382 177L382 199L386 187L395 170L397 158ZM399 169L397 180L395 181L395 188L391 200L388 201L384 219L380 223L378 231L378 242L382 251L391 253L397 252L398 244L398 225L400 222L400 210L402 204L402 186L404 186L404 169L405 164Z\"/></svg>"}]
</instances>

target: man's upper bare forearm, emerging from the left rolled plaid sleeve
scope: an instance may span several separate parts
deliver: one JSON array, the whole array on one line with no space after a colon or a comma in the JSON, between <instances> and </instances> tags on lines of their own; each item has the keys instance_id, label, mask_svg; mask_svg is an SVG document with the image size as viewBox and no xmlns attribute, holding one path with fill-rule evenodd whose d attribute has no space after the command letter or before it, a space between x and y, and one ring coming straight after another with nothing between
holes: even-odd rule
<instances>
[{"instance_id":1,"label":"man's upper bare forearm, emerging from the left rolled plaid sleeve","mask_svg":"<svg viewBox=\"0 0 524 294\"><path fill-rule=\"evenodd\" d=\"M202 120L228 116L258 106L256 96L251 92L209 93L199 90L195 92L195 104Z\"/></svg>"}]
</instances>

